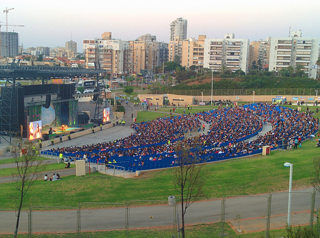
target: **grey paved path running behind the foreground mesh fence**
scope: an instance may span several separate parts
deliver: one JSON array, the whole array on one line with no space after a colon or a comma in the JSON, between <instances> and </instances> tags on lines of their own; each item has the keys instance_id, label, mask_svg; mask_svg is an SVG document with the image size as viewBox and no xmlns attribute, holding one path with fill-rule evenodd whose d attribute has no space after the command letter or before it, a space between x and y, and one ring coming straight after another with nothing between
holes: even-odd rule
<instances>
[{"instance_id":1,"label":"grey paved path running behind the foreground mesh fence","mask_svg":"<svg viewBox=\"0 0 320 238\"><path fill-rule=\"evenodd\" d=\"M50 183L50 182L48 182ZM291 225L308 224L312 188L294 190L292 194ZM271 196L270 228L279 228L286 225L288 212L288 193L273 193ZM95 201L99 202L99 200ZM172 226L175 210L167 202L153 202L152 206L141 206L141 203L132 201L129 209L129 227L150 228ZM75 201L75 205L76 205ZM138 206L139 205L139 206ZM320 196L316 196L316 205L320 205ZM61 204L61 206L63 206ZM126 222L126 208L124 204L100 204L101 209L87 209L87 204L81 205L81 231L124 229ZM221 217L221 199L210 199L193 203L187 210L186 224L201 224L219 222ZM225 202L225 221L237 226L236 214L240 214L240 229L256 231L265 229L268 207L268 194L256 196L227 196ZM180 206L177 206L178 212ZM42 211L39 211L41 209ZM36 211L38 210L38 211ZM59 219L52 219L58 217ZM77 210L75 208L56 208L45 211L44 208L33 208L32 231L36 232L72 232L76 231ZM14 230L15 212L0 211L0 233ZM20 232L27 232L27 212L23 212L20 220ZM181 220L180 220L181 221Z\"/></svg>"}]
</instances>

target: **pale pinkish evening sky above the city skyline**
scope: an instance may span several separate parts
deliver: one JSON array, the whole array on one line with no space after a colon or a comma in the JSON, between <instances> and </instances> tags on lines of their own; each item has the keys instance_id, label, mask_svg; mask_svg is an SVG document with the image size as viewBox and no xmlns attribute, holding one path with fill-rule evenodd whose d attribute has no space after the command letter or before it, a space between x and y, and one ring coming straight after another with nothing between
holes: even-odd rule
<instances>
[{"instance_id":1,"label":"pale pinkish evening sky above the city skyline","mask_svg":"<svg viewBox=\"0 0 320 238\"><path fill-rule=\"evenodd\" d=\"M169 42L169 24L178 17L188 20L187 37L235 38L250 41L268 36L287 37L291 30L301 30L303 37L320 37L320 1L269 0L198 0L198 1L47 1L1 0L0 22L25 27L8 27L19 33L24 48L65 46L71 39L82 52L84 39L101 37L105 31L112 38L133 40L140 35L156 35L157 41ZM5 26L1 27L5 31Z\"/></svg>"}]
</instances>

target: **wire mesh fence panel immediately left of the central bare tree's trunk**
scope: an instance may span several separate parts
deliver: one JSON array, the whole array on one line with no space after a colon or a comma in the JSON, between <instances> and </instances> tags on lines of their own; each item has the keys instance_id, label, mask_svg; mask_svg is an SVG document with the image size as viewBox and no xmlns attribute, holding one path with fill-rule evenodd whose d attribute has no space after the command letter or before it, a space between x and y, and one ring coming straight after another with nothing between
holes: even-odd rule
<instances>
[{"instance_id":1,"label":"wire mesh fence panel immediately left of the central bare tree's trunk","mask_svg":"<svg viewBox=\"0 0 320 238\"><path fill-rule=\"evenodd\" d=\"M143 206L144 205L144 206ZM166 228L173 232L175 206L169 206L168 201L131 200L129 203L128 237L132 230ZM145 232L139 237L148 237ZM171 234L167 234L171 237Z\"/></svg>"}]
</instances>

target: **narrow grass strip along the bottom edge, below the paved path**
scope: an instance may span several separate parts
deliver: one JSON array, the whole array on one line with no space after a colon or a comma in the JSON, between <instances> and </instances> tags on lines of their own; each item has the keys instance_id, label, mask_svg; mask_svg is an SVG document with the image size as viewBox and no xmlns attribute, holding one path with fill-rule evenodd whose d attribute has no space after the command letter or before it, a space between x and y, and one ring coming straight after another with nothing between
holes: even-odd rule
<instances>
[{"instance_id":1,"label":"narrow grass strip along the bottom edge, below the paved path","mask_svg":"<svg viewBox=\"0 0 320 238\"><path fill-rule=\"evenodd\" d=\"M185 226L185 236L188 238L220 238L220 223L213 224L200 224ZM103 231L103 232L81 232L80 237L86 238L123 238L125 231ZM252 232L252 233L236 233L232 228L225 223L224 233L228 233L228 238L259 238L261 235L264 237L265 232ZM135 229L129 230L128 237L130 238L170 238L173 234L173 228L154 228L154 229ZM275 237L283 237L286 234L285 229L273 230L272 234ZM181 234L180 234L181 235ZM11 238L12 234L0 235L0 238ZM21 238L27 238L26 234L19 234ZM56 233L56 234L32 234L32 237L41 238L76 238L76 233ZM176 235L178 237L178 234Z\"/></svg>"}]
</instances>

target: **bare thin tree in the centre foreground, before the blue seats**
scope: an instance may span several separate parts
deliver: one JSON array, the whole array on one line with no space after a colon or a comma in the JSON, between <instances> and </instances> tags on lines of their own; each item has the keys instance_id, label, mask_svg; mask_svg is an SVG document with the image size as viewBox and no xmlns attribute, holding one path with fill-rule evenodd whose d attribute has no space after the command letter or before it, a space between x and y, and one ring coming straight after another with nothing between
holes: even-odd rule
<instances>
[{"instance_id":1,"label":"bare thin tree in the centre foreground, before the blue seats","mask_svg":"<svg viewBox=\"0 0 320 238\"><path fill-rule=\"evenodd\" d=\"M198 138L193 144L195 147L198 146ZM186 140L176 143L175 151L178 159L175 162L174 186L181 196L181 234L184 238L184 215L193 202L203 197L207 171L204 169L205 161L195 155L197 151L191 152L191 146Z\"/></svg>"}]
</instances>

